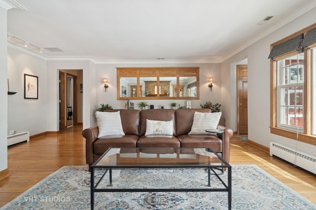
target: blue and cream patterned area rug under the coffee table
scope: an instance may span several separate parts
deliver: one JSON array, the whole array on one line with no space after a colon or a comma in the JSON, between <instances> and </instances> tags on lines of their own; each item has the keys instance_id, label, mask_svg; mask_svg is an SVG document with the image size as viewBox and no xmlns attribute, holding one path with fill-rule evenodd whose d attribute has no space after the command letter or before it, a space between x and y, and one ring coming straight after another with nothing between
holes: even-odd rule
<instances>
[{"instance_id":1,"label":"blue and cream patterned area rug under the coffee table","mask_svg":"<svg viewBox=\"0 0 316 210\"><path fill-rule=\"evenodd\" d=\"M225 180L224 175L221 175ZM97 177L100 173L97 173ZM211 185L219 183L215 177ZM107 181L107 180L106 180ZM203 169L121 169L113 170L113 184L203 186ZM108 183L108 182L106 182ZM104 183L104 184L106 184ZM232 166L232 209L315 210L308 201L256 165ZM28 189L1 210L89 210L90 173L87 166L64 166ZM227 192L97 192L95 209L109 210L227 210Z\"/></svg>"}]
</instances>

